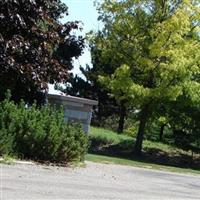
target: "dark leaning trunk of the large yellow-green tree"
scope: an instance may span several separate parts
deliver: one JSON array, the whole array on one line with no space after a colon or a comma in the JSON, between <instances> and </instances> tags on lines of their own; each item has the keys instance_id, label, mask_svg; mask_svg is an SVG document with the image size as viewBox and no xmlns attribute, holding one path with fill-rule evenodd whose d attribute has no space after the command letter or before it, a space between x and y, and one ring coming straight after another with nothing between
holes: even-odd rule
<instances>
[{"instance_id":1,"label":"dark leaning trunk of the large yellow-green tree","mask_svg":"<svg viewBox=\"0 0 200 200\"><path fill-rule=\"evenodd\" d=\"M134 153L140 155L142 151L142 142L145 134L145 127L149 116L149 105L145 105L141 110L140 124L138 128L137 138L134 146Z\"/></svg>"}]
</instances>

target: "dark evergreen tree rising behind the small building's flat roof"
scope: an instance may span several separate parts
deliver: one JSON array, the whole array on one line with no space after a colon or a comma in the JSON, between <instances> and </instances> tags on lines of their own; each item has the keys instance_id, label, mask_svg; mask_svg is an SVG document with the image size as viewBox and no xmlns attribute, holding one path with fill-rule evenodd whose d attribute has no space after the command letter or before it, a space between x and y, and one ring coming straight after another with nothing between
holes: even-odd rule
<instances>
[{"instance_id":1,"label":"dark evergreen tree rising behind the small building's flat roof","mask_svg":"<svg viewBox=\"0 0 200 200\"><path fill-rule=\"evenodd\" d=\"M98 80L100 75L111 75L114 73L117 66L109 56L106 59L101 59L102 50L98 46L101 39L103 39L103 34L98 32L95 38L93 37L92 40L89 40L92 67L88 65L86 68L80 67L84 77L72 76L69 79L70 84L66 84L65 89L60 89L66 94L98 100L98 108L93 117L95 125L103 126L106 124L104 119L110 116L114 118L119 115L117 131L122 133L126 107L123 105L123 102L116 102L113 96L109 95L109 90L103 87Z\"/></svg>"}]
</instances>

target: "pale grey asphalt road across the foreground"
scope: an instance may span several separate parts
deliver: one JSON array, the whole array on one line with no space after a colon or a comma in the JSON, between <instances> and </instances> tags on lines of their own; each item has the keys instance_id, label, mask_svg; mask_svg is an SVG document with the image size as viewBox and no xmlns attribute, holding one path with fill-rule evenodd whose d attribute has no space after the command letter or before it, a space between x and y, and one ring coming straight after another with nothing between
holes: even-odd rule
<instances>
[{"instance_id":1,"label":"pale grey asphalt road across the foreground","mask_svg":"<svg viewBox=\"0 0 200 200\"><path fill-rule=\"evenodd\" d=\"M129 166L0 165L0 175L1 200L200 199L200 176Z\"/></svg>"}]
</instances>

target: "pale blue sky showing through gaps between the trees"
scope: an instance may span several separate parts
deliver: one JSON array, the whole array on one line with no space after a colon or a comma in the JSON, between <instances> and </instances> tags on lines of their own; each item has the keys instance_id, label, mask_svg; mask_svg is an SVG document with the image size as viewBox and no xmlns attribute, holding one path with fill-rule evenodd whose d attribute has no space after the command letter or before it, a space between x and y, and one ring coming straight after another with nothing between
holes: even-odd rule
<instances>
[{"instance_id":1,"label":"pale blue sky showing through gaps between the trees","mask_svg":"<svg viewBox=\"0 0 200 200\"><path fill-rule=\"evenodd\" d=\"M61 0L68 6L69 15L62 19L62 22L67 21L81 21L83 23L83 31L81 35L85 35L87 32L94 30L97 31L100 28L100 23L98 22L98 13L94 6L94 0ZM80 65L85 67L86 64L91 66L91 56L87 48L85 48L84 53L81 57L74 61L73 73L81 76L79 70ZM91 66L92 67L92 66ZM60 92L54 90L53 85L49 85L49 93L59 94Z\"/></svg>"}]
</instances>

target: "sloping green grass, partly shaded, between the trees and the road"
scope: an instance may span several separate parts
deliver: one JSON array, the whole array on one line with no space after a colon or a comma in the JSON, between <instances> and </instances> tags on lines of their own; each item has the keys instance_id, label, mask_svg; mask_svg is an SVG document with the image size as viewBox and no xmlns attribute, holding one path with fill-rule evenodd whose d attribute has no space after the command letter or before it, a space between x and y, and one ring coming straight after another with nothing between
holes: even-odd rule
<instances>
[{"instance_id":1,"label":"sloping green grass, partly shaded, between the trees and the road","mask_svg":"<svg viewBox=\"0 0 200 200\"><path fill-rule=\"evenodd\" d=\"M89 139L87 160L200 174L200 155L192 158L190 151L173 145L144 140L142 156L138 157L132 153L135 139L130 136L91 127Z\"/></svg>"}]
</instances>

